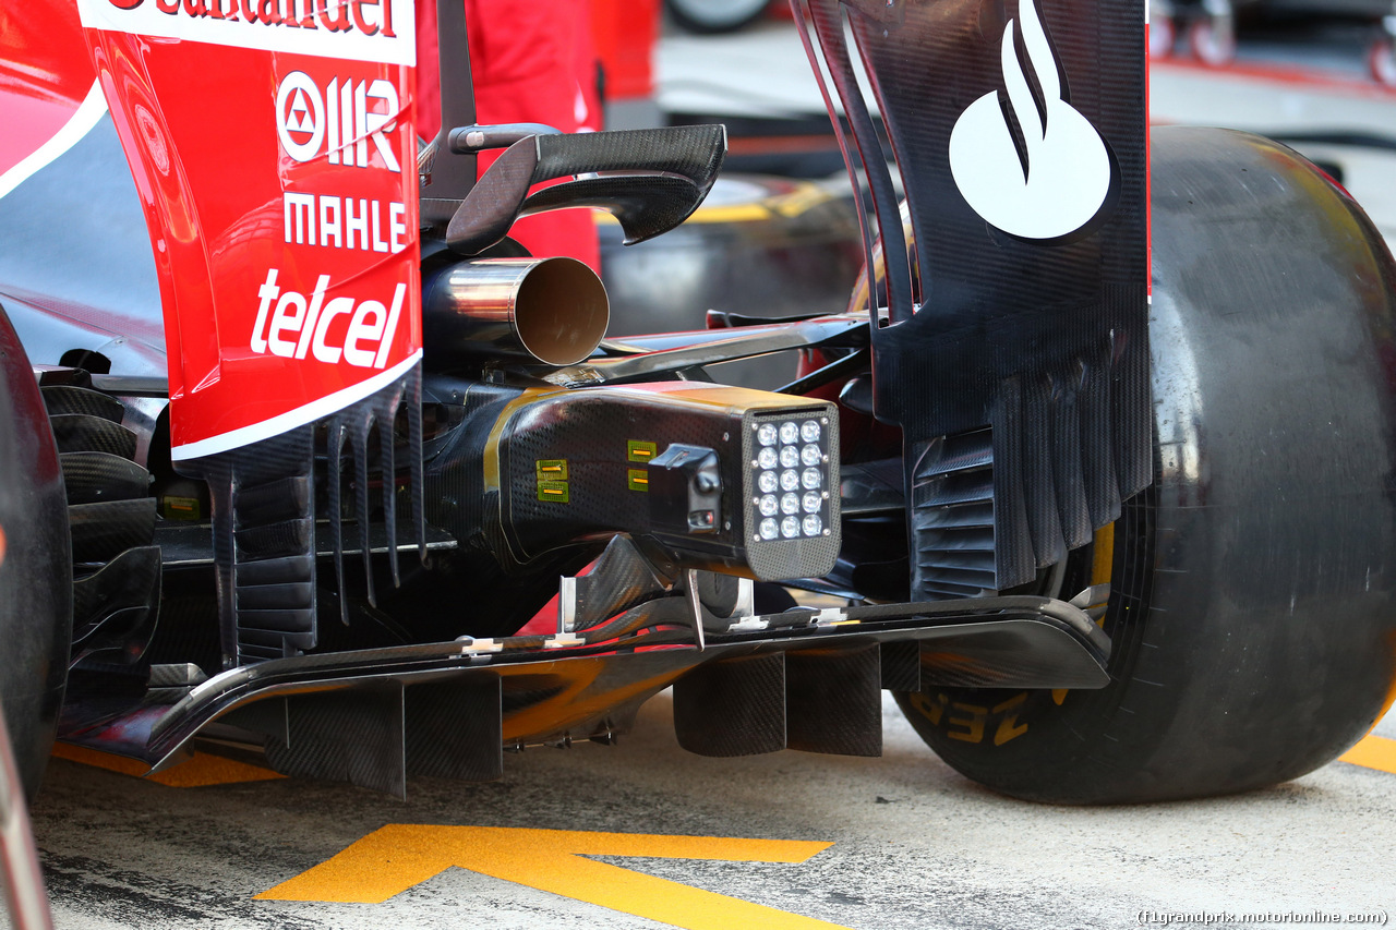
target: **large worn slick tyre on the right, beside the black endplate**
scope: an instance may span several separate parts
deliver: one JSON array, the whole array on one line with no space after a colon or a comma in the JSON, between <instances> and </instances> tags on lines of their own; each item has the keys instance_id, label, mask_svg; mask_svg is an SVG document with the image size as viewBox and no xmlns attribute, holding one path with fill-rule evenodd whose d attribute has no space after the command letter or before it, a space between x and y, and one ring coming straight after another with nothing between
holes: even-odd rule
<instances>
[{"instance_id":1,"label":"large worn slick tyre on the right, beside the black endplate","mask_svg":"<svg viewBox=\"0 0 1396 930\"><path fill-rule=\"evenodd\" d=\"M1396 264L1282 145L1152 144L1154 482L1065 573L1111 585L1110 683L898 698L948 764L1030 800L1275 785L1396 694Z\"/></svg>"}]
</instances>

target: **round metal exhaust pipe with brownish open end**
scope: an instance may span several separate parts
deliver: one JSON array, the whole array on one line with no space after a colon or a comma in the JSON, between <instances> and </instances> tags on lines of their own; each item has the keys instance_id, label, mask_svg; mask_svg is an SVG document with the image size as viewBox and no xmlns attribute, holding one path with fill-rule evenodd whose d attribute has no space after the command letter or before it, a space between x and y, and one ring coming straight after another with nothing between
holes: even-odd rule
<instances>
[{"instance_id":1,"label":"round metal exhaust pipe with brownish open end","mask_svg":"<svg viewBox=\"0 0 1396 930\"><path fill-rule=\"evenodd\" d=\"M606 337L610 302L575 258L477 258L444 270L422 300L423 342L445 363L508 356L577 364Z\"/></svg>"}]
</instances>

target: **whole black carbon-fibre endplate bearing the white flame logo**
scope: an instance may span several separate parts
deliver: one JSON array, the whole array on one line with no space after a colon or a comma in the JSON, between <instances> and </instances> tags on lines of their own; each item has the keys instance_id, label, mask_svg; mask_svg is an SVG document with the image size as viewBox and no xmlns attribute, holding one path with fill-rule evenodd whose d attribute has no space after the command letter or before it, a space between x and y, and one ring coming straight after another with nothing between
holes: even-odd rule
<instances>
[{"instance_id":1,"label":"whole black carbon-fibre endplate bearing the white flame logo","mask_svg":"<svg viewBox=\"0 0 1396 930\"><path fill-rule=\"evenodd\" d=\"M866 253L886 293L885 325L871 327L874 408L903 430L907 486L926 480L917 459L937 437L993 429L995 547L934 552L962 575L948 592L913 563L913 598L965 593L979 580L962 570L986 566L991 589L1029 582L1153 476L1146 3L794 8L831 106L835 92L843 105L845 159L867 179ZM1053 158L1079 172L1054 179Z\"/></svg>"}]
</instances>

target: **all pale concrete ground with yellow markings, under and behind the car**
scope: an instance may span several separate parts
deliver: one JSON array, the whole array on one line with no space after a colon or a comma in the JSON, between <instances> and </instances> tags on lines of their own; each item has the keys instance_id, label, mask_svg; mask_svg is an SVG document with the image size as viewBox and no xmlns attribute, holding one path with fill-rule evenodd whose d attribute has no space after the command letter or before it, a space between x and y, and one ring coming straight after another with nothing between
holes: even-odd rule
<instances>
[{"instance_id":1,"label":"all pale concrete ground with yellow markings, under and behind the car","mask_svg":"<svg viewBox=\"0 0 1396 930\"><path fill-rule=\"evenodd\" d=\"M1289 67L1284 54L1242 45L1231 71L1160 64L1153 117L1396 138L1396 95L1351 67L1268 74L1276 56ZM1325 63L1305 54L1304 67ZM666 109L819 106L789 25L666 38L659 74ZM1392 151L1305 151L1342 162L1396 239ZM1068 809L973 785L891 702L881 760L701 758L678 748L670 716L660 695L616 747L507 755L505 778L487 785L413 779L406 802L207 760L163 779L200 783L174 786L56 758L34 821L57 926L1008 930L1248 912L1284 913L1223 926L1304 926L1294 915L1314 912L1385 926L1396 915L1396 743L1385 741L1396 718L1364 744L1368 765L1336 761L1233 797ZM302 899L258 899L267 892Z\"/></svg>"}]
</instances>

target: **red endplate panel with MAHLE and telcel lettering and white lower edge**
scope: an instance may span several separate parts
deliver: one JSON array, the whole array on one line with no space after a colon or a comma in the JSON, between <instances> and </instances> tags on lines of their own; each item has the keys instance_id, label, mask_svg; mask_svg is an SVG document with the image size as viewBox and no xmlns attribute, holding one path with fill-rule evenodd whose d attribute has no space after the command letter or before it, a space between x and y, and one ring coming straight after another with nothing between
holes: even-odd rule
<instances>
[{"instance_id":1,"label":"red endplate panel with MAHLE and telcel lettering and white lower edge","mask_svg":"<svg viewBox=\"0 0 1396 930\"><path fill-rule=\"evenodd\" d=\"M399 385L422 349L412 0L78 13L159 271L173 459Z\"/></svg>"}]
</instances>

